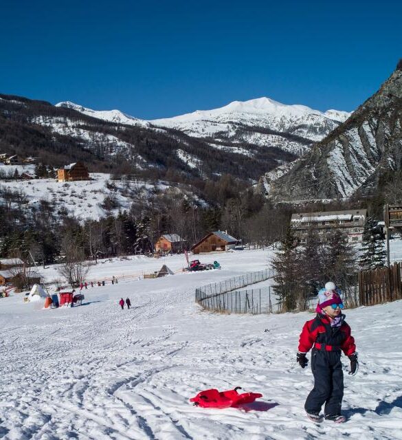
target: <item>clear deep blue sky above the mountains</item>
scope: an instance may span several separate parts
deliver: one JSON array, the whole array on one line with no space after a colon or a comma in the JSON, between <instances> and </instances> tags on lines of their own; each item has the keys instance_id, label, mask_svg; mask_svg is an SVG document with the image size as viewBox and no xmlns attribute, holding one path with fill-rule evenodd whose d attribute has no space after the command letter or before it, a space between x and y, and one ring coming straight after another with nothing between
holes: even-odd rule
<instances>
[{"instance_id":1,"label":"clear deep blue sky above the mountains","mask_svg":"<svg viewBox=\"0 0 402 440\"><path fill-rule=\"evenodd\" d=\"M162 118L268 96L351 111L402 58L399 1L14 1L0 93Z\"/></svg>"}]
</instances>

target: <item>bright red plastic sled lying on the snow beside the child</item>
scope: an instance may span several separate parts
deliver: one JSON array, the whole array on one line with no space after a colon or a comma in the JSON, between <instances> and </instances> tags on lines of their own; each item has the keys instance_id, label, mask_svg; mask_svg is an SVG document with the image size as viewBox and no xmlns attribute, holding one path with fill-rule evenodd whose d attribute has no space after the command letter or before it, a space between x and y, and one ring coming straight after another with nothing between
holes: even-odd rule
<instances>
[{"instance_id":1,"label":"bright red plastic sled lying on the snow beside the child","mask_svg":"<svg viewBox=\"0 0 402 440\"><path fill-rule=\"evenodd\" d=\"M221 392L212 388L211 390L201 391L201 393L192 397L190 401L193 401L194 405L201 406L202 408L229 408L230 406L236 407L243 404L251 404L258 397L263 397L260 393L238 394L237 390L241 390L241 386L236 386L234 390Z\"/></svg>"}]
</instances>

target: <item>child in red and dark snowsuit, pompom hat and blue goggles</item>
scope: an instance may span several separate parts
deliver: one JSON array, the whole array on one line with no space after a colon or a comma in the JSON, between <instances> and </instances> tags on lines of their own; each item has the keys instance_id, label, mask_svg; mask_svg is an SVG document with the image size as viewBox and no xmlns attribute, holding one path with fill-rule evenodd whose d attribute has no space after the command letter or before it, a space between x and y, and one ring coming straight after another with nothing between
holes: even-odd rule
<instances>
[{"instance_id":1,"label":"child in red and dark snowsuit, pompom hat and blue goggles","mask_svg":"<svg viewBox=\"0 0 402 440\"><path fill-rule=\"evenodd\" d=\"M342 372L341 351L350 359L350 373L358 369L355 339L350 335L350 327L342 314L344 304L340 291L331 281L318 292L317 316L304 324L300 334L297 360L300 366L308 364L306 353L311 352L311 370L314 388L307 396L304 409L309 419L322 419L320 410L324 406L327 420L341 423L342 398L344 397L344 374Z\"/></svg>"}]
</instances>

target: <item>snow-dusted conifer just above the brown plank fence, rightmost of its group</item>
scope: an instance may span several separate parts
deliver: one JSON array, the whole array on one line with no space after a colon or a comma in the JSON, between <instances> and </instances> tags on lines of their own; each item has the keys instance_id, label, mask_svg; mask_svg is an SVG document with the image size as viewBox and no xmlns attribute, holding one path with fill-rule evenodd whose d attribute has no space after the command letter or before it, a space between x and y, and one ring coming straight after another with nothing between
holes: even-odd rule
<instances>
[{"instance_id":1,"label":"snow-dusted conifer just above the brown plank fence, rightmost of its group","mask_svg":"<svg viewBox=\"0 0 402 440\"><path fill-rule=\"evenodd\" d=\"M366 219L361 244L359 265L361 270L370 270L386 265L386 250L384 249L384 236L377 221L372 217Z\"/></svg>"}]
</instances>

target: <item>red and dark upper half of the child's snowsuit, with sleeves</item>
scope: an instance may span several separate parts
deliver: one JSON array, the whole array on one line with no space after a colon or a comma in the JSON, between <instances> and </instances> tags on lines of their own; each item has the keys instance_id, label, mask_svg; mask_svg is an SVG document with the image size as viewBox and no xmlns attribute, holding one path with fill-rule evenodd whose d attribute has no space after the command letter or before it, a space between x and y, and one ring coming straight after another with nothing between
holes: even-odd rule
<instances>
[{"instance_id":1,"label":"red and dark upper half of the child's snowsuit, with sleeves","mask_svg":"<svg viewBox=\"0 0 402 440\"><path fill-rule=\"evenodd\" d=\"M344 321L339 327L331 327L331 321L326 315L317 316L304 324L300 333L299 351L307 353L314 344L320 344L326 351L342 349L346 356L350 356L356 351L355 339L350 335L350 327Z\"/></svg>"}]
</instances>

